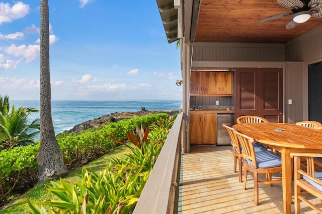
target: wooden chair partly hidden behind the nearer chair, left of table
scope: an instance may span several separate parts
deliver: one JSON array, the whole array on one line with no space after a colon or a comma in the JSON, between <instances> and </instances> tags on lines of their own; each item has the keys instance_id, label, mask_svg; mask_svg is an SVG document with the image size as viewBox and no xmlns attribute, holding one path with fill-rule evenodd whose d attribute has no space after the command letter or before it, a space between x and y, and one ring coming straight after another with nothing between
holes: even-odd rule
<instances>
[{"instance_id":1,"label":"wooden chair partly hidden behind the nearer chair, left of table","mask_svg":"<svg viewBox=\"0 0 322 214\"><path fill-rule=\"evenodd\" d=\"M238 173L239 173L239 177L238 180L239 182L243 182L243 166L241 166L241 159L243 159L243 154L241 153L241 147L240 144L238 142L237 136L236 134L233 132L233 130L235 130L234 128L232 128L231 126L229 126L228 124L222 124L223 127L226 128L228 135L230 137L230 144L232 146L231 148L231 153L233 154L233 172L236 172L236 166L237 166L237 159L238 159Z\"/></svg>"}]
</instances>

